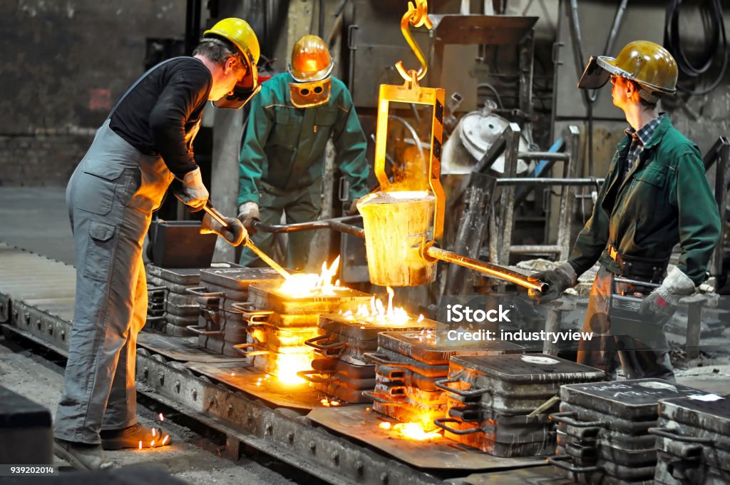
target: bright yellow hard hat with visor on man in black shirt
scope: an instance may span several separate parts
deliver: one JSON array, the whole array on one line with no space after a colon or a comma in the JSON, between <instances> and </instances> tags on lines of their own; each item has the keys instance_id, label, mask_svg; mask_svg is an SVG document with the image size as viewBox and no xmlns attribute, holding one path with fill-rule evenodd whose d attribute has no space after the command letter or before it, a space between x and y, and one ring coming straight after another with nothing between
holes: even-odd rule
<instances>
[{"instance_id":1,"label":"bright yellow hard hat with visor on man in black shirt","mask_svg":"<svg viewBox=\"0 0 730 485\"><path fill-rule=\"evenodd\" d=\"M240 18L224 18L204 31L203 37L222 37L238 47L242 53L248 67L246 76L237 83L233 95L225 96L223 100L214 103L217 107L234 109L242 107L258 91L256 64L261 54L261 47L258 45L258 38L253 28Z\"/></svg>"}]
</instances>

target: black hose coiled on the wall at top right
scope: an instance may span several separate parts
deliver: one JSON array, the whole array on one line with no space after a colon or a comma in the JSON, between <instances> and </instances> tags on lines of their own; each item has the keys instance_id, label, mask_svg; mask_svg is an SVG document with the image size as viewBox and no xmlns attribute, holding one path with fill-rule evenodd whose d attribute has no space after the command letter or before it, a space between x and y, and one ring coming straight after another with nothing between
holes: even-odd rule
<instances>
[{"instance_id":1,"label":"black hose coiled on the wall at top right","mask_svg":"<svg viewBox=\"0 0 730 485\"><path fill-rule=\"evenodd\" d=\"M699 61L692 62L682 47L680 38L680 6L682 0L672 0L666 4L666 20L664 21L664 47L674 56L680 72L687 77L699 77L710 70L714 64L715 56L720 48L722 49L722 65L718 77L704 90L692 91L677 85L677 89L690 96L702 96L714 91L720 85L728 66L728 47L723 20L723 8L720 0L705 0L702 9L708 14L710 25L705 28L708 37L706 39L704 52ZM722 41L722 42L721 42ZM721 45L722 44L722 45Z\"/></svg>"}]
</instances>

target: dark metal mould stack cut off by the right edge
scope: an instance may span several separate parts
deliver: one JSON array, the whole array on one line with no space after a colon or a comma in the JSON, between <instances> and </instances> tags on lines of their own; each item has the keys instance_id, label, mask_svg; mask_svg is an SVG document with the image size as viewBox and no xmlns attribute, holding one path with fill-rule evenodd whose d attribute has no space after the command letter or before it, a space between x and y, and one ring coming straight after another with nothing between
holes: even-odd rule
<instances>
[{"instance_id":1,"label":"dark metal mould stack cut off by the right edge","mask_svg":"<svg viewBox=\"0 0 730 485\"><path fill-rule=\"evenodd\" d=\"M730 484L730 399L698 394L659 401L654 483Z\"/></svg>"}]
</instances>

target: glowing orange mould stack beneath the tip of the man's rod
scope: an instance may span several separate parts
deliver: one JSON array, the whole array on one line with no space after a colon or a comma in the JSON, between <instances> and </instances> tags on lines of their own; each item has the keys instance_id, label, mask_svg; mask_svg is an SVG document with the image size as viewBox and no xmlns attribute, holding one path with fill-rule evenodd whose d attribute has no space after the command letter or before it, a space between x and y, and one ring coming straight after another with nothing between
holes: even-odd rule
<instances>
[{"instance_id":1,"label":"glowing orange mould stack beneath the tip of the man's rod","mask_svg":"<svg viewBox=\"0 0 730 485\"><path fill-rule=\"evenodd\" d=\"M318 336L320 314L354 310L371 297L347 288L338 288L334 294L314 291L293 296L281 291L280 285L252 286L250 305L242 308L250 338L237 348L254 367L277 375L280 381L301 382L297 373L309 370L314 357L305 342Z\"/></svg>"}]
</instances>

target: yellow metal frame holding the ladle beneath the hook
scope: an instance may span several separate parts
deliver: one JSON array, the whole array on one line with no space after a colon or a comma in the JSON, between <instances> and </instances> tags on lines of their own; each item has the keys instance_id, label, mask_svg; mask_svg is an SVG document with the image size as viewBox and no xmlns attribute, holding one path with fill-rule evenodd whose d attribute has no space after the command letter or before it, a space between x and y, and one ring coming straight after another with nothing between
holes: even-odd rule
<instances>
[{"instance_id":1,"label":"yellow metal frame holding the ladle beneath the hook","mask_svg":"<svg viewBox=\"0 0 730 485\"><path fill-rule=\"evenodd\" d=\"M417 83L407 81L404 85L380 85L377 102L377 131L375 139L374 172L380 189L388 191L391 185L385 173L385 145L388 141L388 108L391 102L408 104L424 104L431 106L431 153L429 156L429 187L422 190L433 192L436 197L434 211L434 240L441 239L444 232L444 214L446 200L444 188L441 186L441 141L443 134L444 90L442 88L422 88ZM415 140L414 140L415 141ZM413 188L418 190L418 188Z\"/></svg>"}]
</instances>

